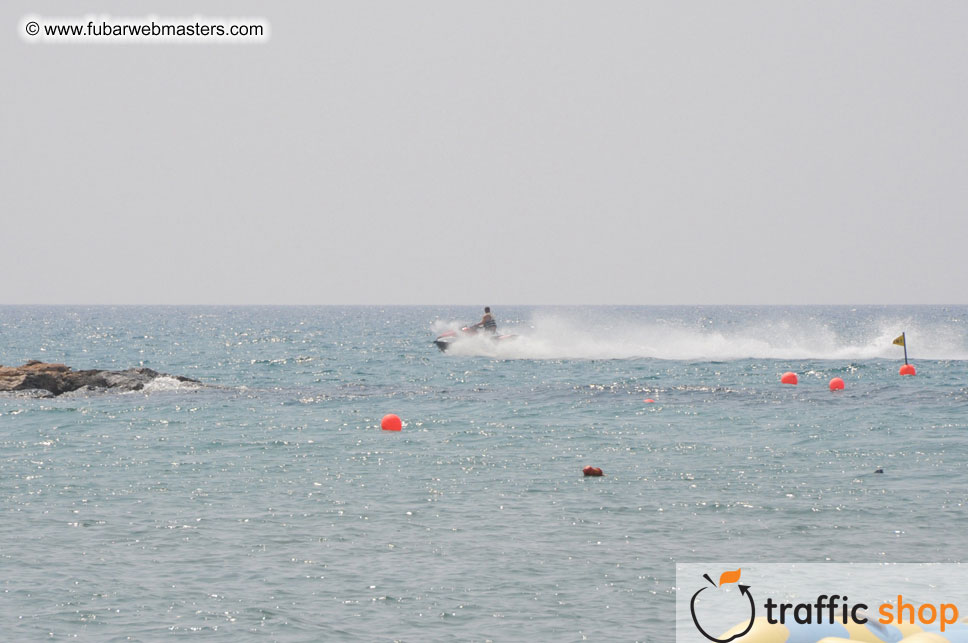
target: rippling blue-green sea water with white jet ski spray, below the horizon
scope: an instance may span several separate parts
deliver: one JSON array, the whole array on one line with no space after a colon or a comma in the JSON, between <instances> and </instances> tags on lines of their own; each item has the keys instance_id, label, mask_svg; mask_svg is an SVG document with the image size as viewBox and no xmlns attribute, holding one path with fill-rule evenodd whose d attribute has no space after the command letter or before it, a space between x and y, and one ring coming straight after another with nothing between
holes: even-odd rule
<instances>
[{"instance_id":1,"label":"rippling blue-green sea water with white jet ski spray, below the horizon","mask_svg":"<svg viewBox=\"0 0 968 643\"><path fill-rule=\"evenodd\" d=\"M494 311L0 307L202 382L0 395L0 639L669 641L677 561L968 560L968 307Z\"/></svg>"}]
</instances>

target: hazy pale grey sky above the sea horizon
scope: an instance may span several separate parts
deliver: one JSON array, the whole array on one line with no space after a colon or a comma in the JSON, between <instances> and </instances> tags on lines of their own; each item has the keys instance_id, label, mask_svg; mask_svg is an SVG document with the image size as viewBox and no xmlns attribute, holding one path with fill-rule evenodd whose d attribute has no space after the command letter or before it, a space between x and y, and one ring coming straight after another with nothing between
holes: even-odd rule
<instances>
[{"instance_id":1,"label":"hazy pale grey sky above the sea horizon","mask_svg":"<svg viewBox=\"0 0 968 643\"><path fill-rule=\"evenodd\" d=\"M55 44L27 15L257 16ZM968 303L968 3L0 6L0 304Z\"/></svg>"}]
</instances>

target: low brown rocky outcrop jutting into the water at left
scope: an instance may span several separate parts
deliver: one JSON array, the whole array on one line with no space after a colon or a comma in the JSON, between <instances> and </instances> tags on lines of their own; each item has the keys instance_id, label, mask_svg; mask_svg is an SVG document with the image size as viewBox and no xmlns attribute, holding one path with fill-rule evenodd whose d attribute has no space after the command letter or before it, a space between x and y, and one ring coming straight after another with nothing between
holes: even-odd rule
<instances>
[{"instance_id":1,"label":"low brown rocky outcrop jutting into the water at left","mask_svg":"<svg viewBox=\"0 0 968 643\"><path fill-rule=\"evenodd\" d=\"M0 366L0 391L48 391L61 395L78 389L116 389L140 391L159 377L170 377L179 382L200 384L198 380L179 375L165 375L150 368L129 368L126 371L74 371L64 364L47 364L31 360L23 366Z\"/></svg>"}]
</instances>

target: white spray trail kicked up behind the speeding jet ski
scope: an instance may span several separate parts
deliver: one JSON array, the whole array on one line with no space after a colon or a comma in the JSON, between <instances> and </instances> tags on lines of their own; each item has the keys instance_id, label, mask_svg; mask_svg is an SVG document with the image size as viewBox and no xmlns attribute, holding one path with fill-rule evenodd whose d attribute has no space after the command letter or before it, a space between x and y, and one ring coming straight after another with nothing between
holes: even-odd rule
<instances>
[{"instance_id":1,"label":"white spray trail kicked up behind the speeding jet ski","mask_svg":"<svg viewBox=\"0 0 968 643\"><path fill-rule=\"evenodd\" d=\"M437 324L435 331L454 326ZM968 360L965 322L885 318L862 329L845 329L804 319L749 320L725 326L710 319L589 325L561 315L540 315L527 325L501 327L501 332L517 334L515 340L495 343L469 337L448 353L497 359L900 359L903 348L892 341L906 331L911 359Z\"/></svg>"}]
</instances>

